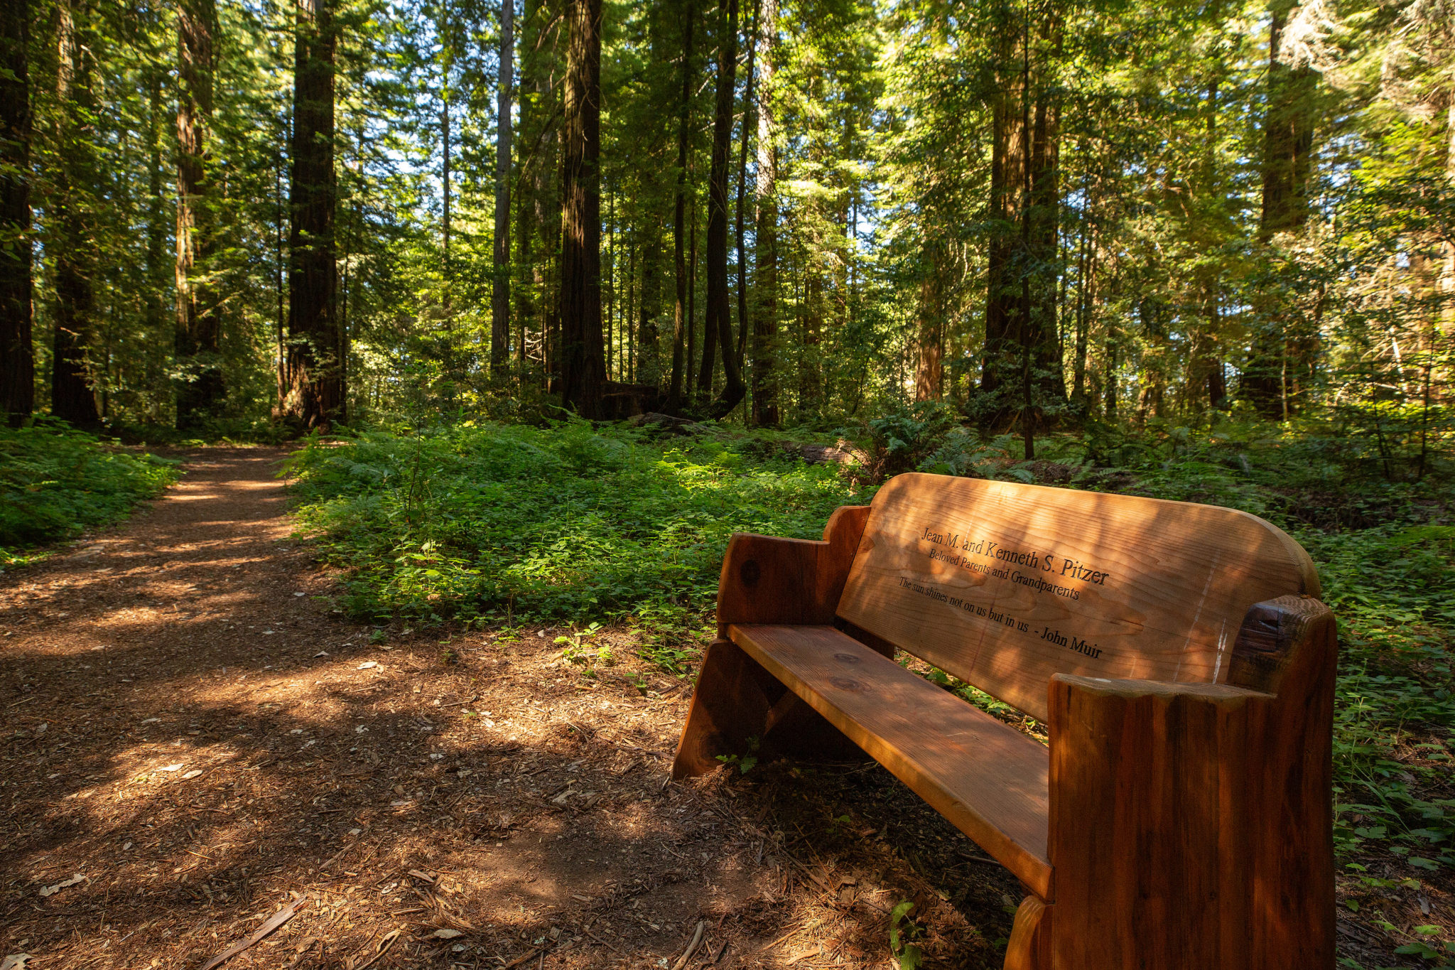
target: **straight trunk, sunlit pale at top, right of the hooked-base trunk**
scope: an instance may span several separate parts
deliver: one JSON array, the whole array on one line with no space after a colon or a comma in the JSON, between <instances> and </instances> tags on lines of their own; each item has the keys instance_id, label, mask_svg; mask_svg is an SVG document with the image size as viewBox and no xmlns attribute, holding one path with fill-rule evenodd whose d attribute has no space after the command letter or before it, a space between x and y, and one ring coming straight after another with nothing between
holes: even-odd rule
<instances>
[{"instance_id":1,"label":"straight trunk, sunlit pale at top, right of the hooked-base trunk","mask_svg":"<svg viewBox=\"0 0 1455 970\"><path fill-rule=\"evenodd\" d=\"M778 382L774 353L778 340L778 164L774 150L773 70L778 36L778 0L761 0L758 15L758 225L754 236L752 423L778 426Z\"/></svg>"}]
</instances>

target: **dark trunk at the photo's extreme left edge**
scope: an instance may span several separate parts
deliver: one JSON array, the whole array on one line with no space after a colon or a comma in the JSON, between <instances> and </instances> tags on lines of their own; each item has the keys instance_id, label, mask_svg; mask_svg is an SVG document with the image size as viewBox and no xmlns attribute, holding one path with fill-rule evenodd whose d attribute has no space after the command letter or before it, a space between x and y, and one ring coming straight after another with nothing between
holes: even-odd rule
<instances>
[{"instance_id":1,"label":"dark trunk at the photo's extreme left edge","mask_svg":"<svg viewBox=\"0 0 1455 970\"><path fill-rule=\"evenodd\" d=\"M35 409L29 47L29 0L9 0L0 7L0 409L10 425Z\"/></svg>"}]
</instances>

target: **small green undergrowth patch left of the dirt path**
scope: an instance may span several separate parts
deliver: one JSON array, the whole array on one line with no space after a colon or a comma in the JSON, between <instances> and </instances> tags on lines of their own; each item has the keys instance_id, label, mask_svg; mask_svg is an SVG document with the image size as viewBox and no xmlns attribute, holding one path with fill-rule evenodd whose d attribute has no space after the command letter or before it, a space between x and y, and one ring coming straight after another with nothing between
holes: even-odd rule
<instances>
[{"instance_id":1,"label":"small green undergrowth patch left of the dirt path","mask_svg":"<svg viewBox=\"0 0 1455 970\"><path fill-rule=\"evenodd\" d=\"M124 519L178 477L178 464L41 422L0 429L0 566Z\"/></svg>"}]
</instances>

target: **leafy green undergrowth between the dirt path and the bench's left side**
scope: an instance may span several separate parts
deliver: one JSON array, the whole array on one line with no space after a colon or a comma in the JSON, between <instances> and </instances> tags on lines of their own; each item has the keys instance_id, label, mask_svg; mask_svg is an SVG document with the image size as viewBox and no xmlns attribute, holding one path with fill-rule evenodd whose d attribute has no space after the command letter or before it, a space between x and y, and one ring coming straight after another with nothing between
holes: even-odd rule
<instances>
[{"instance_id":1,"label":"leafy green undergrowth between the dirt path and the bench's left side","mask_svg":"<svg viewBox=\"0 0 1455 970\"><path fill-rule=\"evenodd\" d=\"M837 506L873 494L783 454L585 422L463 425L308 442L288 474L303 526L348 570L354 614L627 622L679 668L729 535L818 538Z\"/></svg>"}]
</instances>

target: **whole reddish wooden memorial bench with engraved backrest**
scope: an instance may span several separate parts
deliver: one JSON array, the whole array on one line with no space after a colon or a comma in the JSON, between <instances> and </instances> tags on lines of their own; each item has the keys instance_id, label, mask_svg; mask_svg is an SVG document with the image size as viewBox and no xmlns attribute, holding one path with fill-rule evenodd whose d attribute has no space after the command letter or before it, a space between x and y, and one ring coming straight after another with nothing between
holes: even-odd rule
<instances>
[{"instance_id":1,"label":"whole reddish wooden memorial bench with engraved backrest","mask_svg":"<svg viewBox=\"0 0 1455 970\"><path fill-rule=\"evenodd\" d=\"M1318 592L1243 512L899 476L822 542L732 538L672 772L857 745L1024 884L1010 970L1323 970ZM1049 749L895 649L1043 721Z\"/></svg>"}]
</instances>

